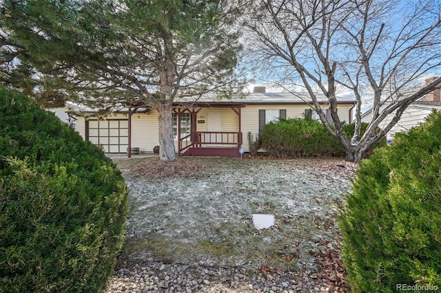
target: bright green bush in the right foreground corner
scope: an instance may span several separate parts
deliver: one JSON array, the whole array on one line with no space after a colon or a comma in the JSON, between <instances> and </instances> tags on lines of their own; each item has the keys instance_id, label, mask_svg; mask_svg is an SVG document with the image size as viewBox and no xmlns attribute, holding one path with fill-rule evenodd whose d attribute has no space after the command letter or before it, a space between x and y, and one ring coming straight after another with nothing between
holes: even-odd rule
<instances>
[{"instance_id":1,"label":"bright green bush in the right foreground corner","mask_svg":"<svg viewBox=\"0 0 441 293\"><path fill-rule=\"evenodd\" d=\"M361 162L340 217L353 292L441 287L440 175L441 112Z\"/></svg>"}]
</instances>

